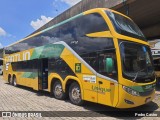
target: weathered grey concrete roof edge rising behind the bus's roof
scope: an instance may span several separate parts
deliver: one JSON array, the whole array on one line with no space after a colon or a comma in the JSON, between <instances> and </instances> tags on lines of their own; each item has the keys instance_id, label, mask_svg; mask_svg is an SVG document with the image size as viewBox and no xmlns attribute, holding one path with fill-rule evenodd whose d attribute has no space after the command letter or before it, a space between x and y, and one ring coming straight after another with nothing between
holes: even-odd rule
<instances>
[{"instance_id":1,"label":"weathered grey concrete roof edge rising behind the bus's roof","mask_svg":"<svg viewBox=\"0 0 160 120\"><path fill-rule=\"evenodd\" d=\"M117 5L120 5L125 0L82 0L78 4L74 5L70 9L66 10L62 14L55 17L53 20L51 20L49 23L42 26L40 29L36 30L34 33L41 31L49 26L52 26L54 24L57 24L61 21L64 21L72 16L75 16L79 13L82 13L86 10L92 9L92 8L113 8ZM131 1L131 0L128 0ZM127 2L128 2L127 1ZM33 34L33 33L32 33Z\"/></svg>"}]
</instances>

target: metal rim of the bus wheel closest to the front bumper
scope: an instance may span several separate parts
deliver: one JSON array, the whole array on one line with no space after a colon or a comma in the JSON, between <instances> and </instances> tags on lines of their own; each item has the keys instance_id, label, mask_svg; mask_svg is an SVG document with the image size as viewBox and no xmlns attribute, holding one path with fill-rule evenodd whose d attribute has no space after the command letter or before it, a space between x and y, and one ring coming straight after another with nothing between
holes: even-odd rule
<instances>
[{"instance_id":1,"label":"metal rim of the bus wheel closest to the front bumper","mask_svg":"<svg viewBox=\"0 0 160 120\"><path fill-rule=\"evenodd\" d=\"M79 88L75 87L72 89L72 98L76 102L79 102L81 100L81 93Z\"/></svg>"}]
</instances>

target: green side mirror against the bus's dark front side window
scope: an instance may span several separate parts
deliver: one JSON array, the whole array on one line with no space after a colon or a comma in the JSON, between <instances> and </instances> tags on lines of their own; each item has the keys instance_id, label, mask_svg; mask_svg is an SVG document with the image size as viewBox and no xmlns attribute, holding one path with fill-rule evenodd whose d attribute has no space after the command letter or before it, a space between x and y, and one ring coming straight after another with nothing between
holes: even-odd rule
<instances>
[{"instance_id":1,"label":"green side mirror against the bus's dark front side window","mask_svg":"<svg viewBox=\"0 0 160 120\"><path fill-rule=\"evenodd\" d=\"M114 62L112 58L106 58L105 61L105 67L106 67L106 72L107 73L112 73L112 71L114 70Z\"/></svg>"}]
</instances>

